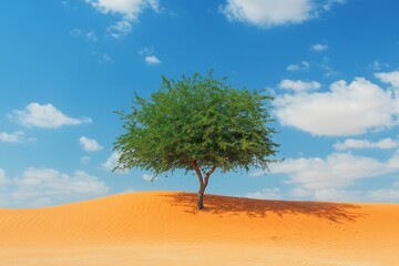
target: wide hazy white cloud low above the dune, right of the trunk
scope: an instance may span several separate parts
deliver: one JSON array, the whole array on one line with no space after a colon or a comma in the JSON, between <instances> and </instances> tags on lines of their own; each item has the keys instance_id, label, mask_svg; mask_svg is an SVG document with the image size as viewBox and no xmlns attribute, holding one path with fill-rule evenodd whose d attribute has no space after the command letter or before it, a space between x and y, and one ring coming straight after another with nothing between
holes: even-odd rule
<instances>
[{"instance_id":1,"label":"wide hazy white cloud low above the dune, right of the trunk","mask_svg":"<svg viewBox=\"0 0 399 266\"><path fill-rule=\"evenodd\" d=\"M399 173L399 152L396 152L386 161L356 156L351 153L332 153L325 158L288 158L270 165L270 173L286 174L288 176L286 183L295 186L290 192L290 196L297 198L310 197L318 201L349 201L352 198L347 195L347 191L357 181ZM264 172L255 171L250 175L260 176L264 175ZM352 195L356 195L354 190L350 191ZM359 193L356 198L361 201L383 200L376 196L371 197L371 192Z\"/></svg>"}]
</instances>

